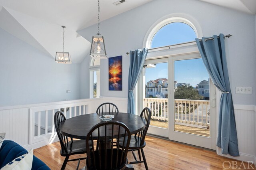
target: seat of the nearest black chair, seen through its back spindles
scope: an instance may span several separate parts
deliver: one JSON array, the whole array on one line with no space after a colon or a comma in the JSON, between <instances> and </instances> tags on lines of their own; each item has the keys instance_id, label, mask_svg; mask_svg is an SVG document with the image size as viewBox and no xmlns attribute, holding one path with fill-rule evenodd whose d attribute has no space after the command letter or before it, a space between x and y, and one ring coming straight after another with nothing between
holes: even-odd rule
<instances>
[{"instance_id":1,"label":"seat of the nearest black chair, seen through its back spindles","mask_svg":"<svg viewBox=\"0 0 256 170\"><path fill-rule=\"evenodd\" d=\"M101 154L101 157L99 155L99 153ZM113 149L113 153L111 153L111 149L107 149L107 154L106 154L106 159L107 159L107 168L106 170L124 170L126 168L126 164L127 164L127 159L126 159L126 162L124 162L123 164L121 164L120 166L118 166L117 168L112 168L111 169L111 157L112 158L116 158L116 154L119 154L121 155L122 154L122 150L121 149L118 149L118 152L116 149ZM124 153L124 152L123 152ZM91 158L93 158L93 153L90 152L90 156ZM99 150L95 150L94 151L94 156L95 156L95 164L96 164L96 169L97 170L100 170L100 169L105 169L105 150L101 150L101 152L99 152ZM101 158L101 160L100 160ZM88 159L86 159L86 168L88 170L93 170L93 168L89 167L88 166ZM101 167L100 167L100 161L101 161ZM120 159L118 159L118 162L120 161ZM116 164L116 160L113 159L112 160L112 164Z\"/></svg>"}]
</instances>

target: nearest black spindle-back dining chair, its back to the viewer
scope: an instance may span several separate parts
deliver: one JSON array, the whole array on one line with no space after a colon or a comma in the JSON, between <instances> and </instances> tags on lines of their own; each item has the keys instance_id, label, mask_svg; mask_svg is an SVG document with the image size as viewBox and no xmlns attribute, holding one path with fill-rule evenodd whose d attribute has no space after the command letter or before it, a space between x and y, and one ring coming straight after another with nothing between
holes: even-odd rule
<instances>
[{"instance_id":1,"label":"nearest black spindle-back dining chair, its back to the viewer","mask_svg":"<svg viewBox=\"0 0 256 170\"><path fill-rule=\"evenodd\" d=\"M113 139L123 137L127 143L114 146ZM90 129L86 136L87 159L86 169L88 170L124 170L127 164L127 152L130 144L131 133L124 123L118 121L102 122ZM98 143L98 150L94 149Z\"/></svg>"}]
</instances>

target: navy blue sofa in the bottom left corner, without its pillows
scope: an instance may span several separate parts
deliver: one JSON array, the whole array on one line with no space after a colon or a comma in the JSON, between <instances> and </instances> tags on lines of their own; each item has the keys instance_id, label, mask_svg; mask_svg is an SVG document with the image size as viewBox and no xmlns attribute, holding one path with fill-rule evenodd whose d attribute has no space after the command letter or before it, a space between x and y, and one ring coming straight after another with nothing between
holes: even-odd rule
<instances>
[{"instance_id":1,"label":"navy blue sofa in the bottom left corner, without its pillows","mask_svg":"<svg viewBox=\"0 0 256 170\"><path fill-rule=\"evenodd\" d=\"M4 140L0 148L0 169L26 152L28 151L16 142ZM32 170L50 170L50 168L42 160L33 156Z\"/></svg>"}]
</instances>

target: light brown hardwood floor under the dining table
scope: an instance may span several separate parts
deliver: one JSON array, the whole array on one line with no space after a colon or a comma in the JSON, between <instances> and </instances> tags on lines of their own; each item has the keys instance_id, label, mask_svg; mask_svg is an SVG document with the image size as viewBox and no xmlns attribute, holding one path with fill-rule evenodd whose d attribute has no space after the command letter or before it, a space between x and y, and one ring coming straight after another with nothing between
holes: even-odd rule
<instances>
[{"instance_id":1,"label":"light brown hardwood floor under the dining table","mask_svg":"<svg viewBox=\"0 0 256 170\"><path fill-rule=\"evenodd\" d=\"M233 159L218 156L216 152L180 144L165 139L146 136L144 148L148 168L150 170L222 170L232 169ZM59 170L64 161L60 156L60 143L56 142L34 150L34 155L45 162L52 170ZM70 156L70 158L84 155ZM128 153L128 160L133 160L132 153ZM226 161L226 162L225 162ZM66 170L76 169L78 161L68 162ZM230 163L229 163L230 162ZM224 168L222 164L224 163ZM234 162L233 169L248 169L247 162ZM80 162L79 168L85 166L85 160ZM145 170L144 164L133 164L135 170ZM237 167L236 167L237 166ZM249 169L256 169L255 165Z\"/></svg>"}]
</instances>

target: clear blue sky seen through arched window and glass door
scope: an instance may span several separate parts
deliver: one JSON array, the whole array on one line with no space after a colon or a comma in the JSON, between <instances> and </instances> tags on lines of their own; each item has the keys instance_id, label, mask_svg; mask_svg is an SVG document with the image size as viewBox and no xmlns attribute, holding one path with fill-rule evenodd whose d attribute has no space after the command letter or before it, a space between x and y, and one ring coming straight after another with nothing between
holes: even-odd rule
<instances>
[{"instance_id":1,"label":"clear blue sky seen through arched window and glass door","mask_svg":"<svg viewBox=\"0 0 256 170\"><path fill-rule=\"evenodd\" d=\"M162 27L154 36L151 48L195 41L196 34L187 24L176 22ZM146 68L146 82L158 78L168 79L168 63L157 63L155 68ZM174 61L174 81L190 83L196 87L200 81L207 80L209 75L202 59Z\"/></svg>"}]
</instances>

